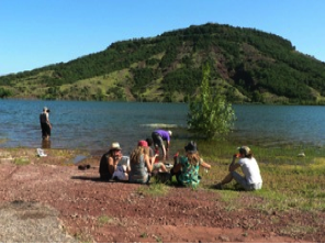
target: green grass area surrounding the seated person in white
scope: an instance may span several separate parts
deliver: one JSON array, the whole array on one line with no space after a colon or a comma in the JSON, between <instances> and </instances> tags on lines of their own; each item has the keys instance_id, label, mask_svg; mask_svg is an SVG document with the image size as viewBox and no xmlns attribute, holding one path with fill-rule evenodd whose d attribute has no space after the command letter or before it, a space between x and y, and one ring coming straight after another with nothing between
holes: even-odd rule
<instances>
[{"instance_id":1,"label":"green grass area surrounding the seated person in white","mask_svg":"<svg viewBox=\"0 0 325 244\"><path fill-rule=\"evenodd\" d=\"M202 186L220 182L228 174L232 155L238 145L232 142L199 142L201 156L212 164L209 174L201 171ZM264 189L256 192L244 192L251 199L250 208L261 211L325 211L325 148L303 145L285 145L282 147L261 147L249 145L257 158ZM304 153L305 157L298 155ZM211 163L213 162L213 163ZM242 173L239 170L239 173ZM236 191L236 184L232 182L223 191L218 191L229 209L240 208L239 199L243 195Z\"/></svg>"}]
</instances>

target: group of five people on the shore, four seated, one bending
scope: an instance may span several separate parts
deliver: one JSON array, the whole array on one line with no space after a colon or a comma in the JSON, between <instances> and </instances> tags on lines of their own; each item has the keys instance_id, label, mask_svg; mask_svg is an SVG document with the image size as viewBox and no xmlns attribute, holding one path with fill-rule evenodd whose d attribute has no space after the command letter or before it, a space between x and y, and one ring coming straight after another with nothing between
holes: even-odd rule
<instances>
[{"instance_id":1,"label":"group of five people on the shore, four seated, one bending","mask_svg":"<svg viewBox=\"0 0 325 244\"><path fill-rule=\"evenodd\" d=\"M139 141L130 157L123 156L119 143L113 143L110 151L101 158L99 168L101 179L148 184L152 175L169 174L170 181L175 176L180 186L197 188L202 179L200 167L209 170L211 165L206 164L200 156L195 142L190 142L184 147L186 155L181 156L177 153L173 156L173 167L169 173L165 164L157 160L159 147L162 151L162 162L167 158L171 135L172 132L170 131L158 130L153 132L153 138ZM244 176L236 171L239 167L242 167ZM233 180L236 180L247 191L262 188L259 166L247 146L238 148L238 154L234 155L229 165L229 174L215 188L223 189L225 185Z\"/></svg>"}]
</instances>

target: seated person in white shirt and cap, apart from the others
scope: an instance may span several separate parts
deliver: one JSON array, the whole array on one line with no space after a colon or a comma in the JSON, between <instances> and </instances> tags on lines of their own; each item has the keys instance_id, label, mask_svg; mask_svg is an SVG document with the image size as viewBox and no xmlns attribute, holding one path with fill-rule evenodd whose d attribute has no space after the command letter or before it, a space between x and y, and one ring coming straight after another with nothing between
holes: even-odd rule
<instances>
[{"instance_id":1,"label":"seated person in white shirt and cap, apart from the others","mask_svg":"<svg viewBox=\"0 0 325 244\"><path fill-rule=\"evenodd\" d=\"M238 152L239 154L234 155L233 162L229 165L229 174L215 188L222 190L224 185L235 179L247 191L260 190L262 187L260 169L250 148L242 146L238 148ZM239 160L236 163L237 158ZM240 167L244 177L236 171Z\"/></svg>"}]
</instances>

